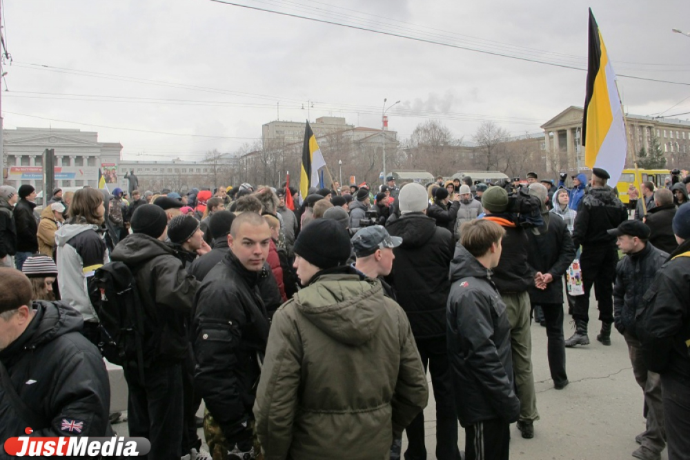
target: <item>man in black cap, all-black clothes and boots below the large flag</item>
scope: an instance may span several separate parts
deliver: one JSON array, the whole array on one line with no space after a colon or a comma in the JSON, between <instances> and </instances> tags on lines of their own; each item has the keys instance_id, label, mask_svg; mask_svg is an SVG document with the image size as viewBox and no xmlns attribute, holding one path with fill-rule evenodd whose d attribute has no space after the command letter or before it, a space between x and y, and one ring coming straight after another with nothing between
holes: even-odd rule
<instances>
[{"instance_id":1,"label":"man in black cap, all-black clothes and boots below the large flag","mask_svg":"<svg viewBox=\"0 0 690 460\"><path fill-rule=\"evenodd\" d=\"M599 319L602 330L597 340L611 345L611 324L613 323L613 280L618 263L615 237L608 233L620 223L628 220L628 211L620 199L607 186L609 173L593 168L589 193L582 198L575 217L573 241L575 248L582 245L580 267L584 294L575 297L573 319L575 334L565 341L566 347L589 345L587 323L589 323L589 294L594 292L599 303Z\"/></svg>"}]
</instances>

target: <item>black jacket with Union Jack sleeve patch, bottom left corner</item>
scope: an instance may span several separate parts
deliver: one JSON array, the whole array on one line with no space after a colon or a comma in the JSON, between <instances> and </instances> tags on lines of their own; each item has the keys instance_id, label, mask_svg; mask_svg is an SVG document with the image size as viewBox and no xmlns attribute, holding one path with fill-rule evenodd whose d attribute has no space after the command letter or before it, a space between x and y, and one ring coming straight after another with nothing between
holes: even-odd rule
<instances>
[{"instance_id":1,"label":"black jacket with Union Jack sleeve patch, bottom left corner","mask_svg":"<svg viewBox=\"0 0 690 460\"><path fill-rule=\"evenodd\" d=\"M110 385L98 349L79 331L81 314L66 303L37 301L28 328L0 351L14 389L45 426L32 425L33 437L106 436ZM81 432L63 421L82 423ZM24 436L28 426L0 386L0 439ZM6 458L0 447L0 458Z\"/></svg>"}]
</instances>

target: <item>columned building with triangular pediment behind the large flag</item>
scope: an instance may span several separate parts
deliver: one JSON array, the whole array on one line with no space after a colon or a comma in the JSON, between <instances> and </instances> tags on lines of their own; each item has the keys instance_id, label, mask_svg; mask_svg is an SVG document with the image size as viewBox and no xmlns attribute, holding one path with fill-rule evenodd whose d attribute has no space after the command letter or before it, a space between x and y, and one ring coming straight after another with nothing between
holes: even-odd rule
<instances>
[{"instance_id":1,"label":"columned building with triangular pediment behind the large flag","mask_svg":"<svg viewBox=\"0 0 690 460\"><path fill-rule=\"evenodd\" d=\"M541 126L547 172L586 169L581 135L583 115L582 108L571 106ZM633 166L633 158L642 148L649 152L653 139L667 158L667 168L690 167L690 121L626 114L625 128L627 167Z\"/></svg>"}]
</instances>

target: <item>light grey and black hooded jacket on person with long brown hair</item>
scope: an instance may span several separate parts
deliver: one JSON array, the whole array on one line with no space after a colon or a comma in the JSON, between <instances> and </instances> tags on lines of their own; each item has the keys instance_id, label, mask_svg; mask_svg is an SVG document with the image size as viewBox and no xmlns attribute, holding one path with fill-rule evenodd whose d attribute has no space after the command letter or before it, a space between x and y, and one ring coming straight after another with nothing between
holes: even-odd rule
<instances>
[{"instance_id":1,"label":"light grey and black hooded jacket on person with long brown hair","mask_svg":"<svg viewBox=\"0 0 690 460\"><path fill-rule=\"evenodd\" d=\"M55 232L57 283L60 296L81 313L84 321L98 322L89 292L97 268L110 261L106 243L90 223L70 223Z\"/></svg>"}]
</instances>

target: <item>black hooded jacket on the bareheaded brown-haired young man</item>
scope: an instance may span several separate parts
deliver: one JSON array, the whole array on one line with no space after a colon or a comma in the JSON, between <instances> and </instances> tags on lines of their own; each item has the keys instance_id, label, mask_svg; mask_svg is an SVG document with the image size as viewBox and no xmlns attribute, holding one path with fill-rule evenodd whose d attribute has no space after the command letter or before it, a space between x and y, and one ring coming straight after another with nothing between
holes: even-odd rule
<instances>
[{"instance_id":1,"label":"black hooded jacket on the bareheaded brown-haired young man","mask_svg":"<svg viewBox=\"0 0 690 460\"><path fill-rule=\"evenodd\" d=\"M517 420L511 325L491 271L462 246L451 262L448 354L457 418L462 426L500 418Z\"/></svg>"}]
</instances>

